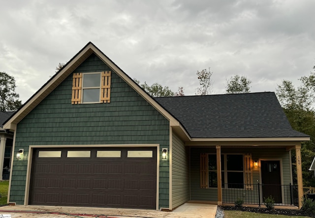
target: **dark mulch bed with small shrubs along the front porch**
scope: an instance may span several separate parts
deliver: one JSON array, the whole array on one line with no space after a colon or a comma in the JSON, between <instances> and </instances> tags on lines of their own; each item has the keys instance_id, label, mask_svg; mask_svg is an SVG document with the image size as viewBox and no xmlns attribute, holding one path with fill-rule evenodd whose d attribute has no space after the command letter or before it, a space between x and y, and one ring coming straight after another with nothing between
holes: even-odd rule
<instances>
[{"instance_id":1,"label":"dark mulch bed with small shrubs along the front porch","mask_svg":"<svg viewBox=\"0 0 315 218\"><path fill-rule=\"evenodd\" d=\"M315 218L315 214L311 211L301 211L301 210L288 210L288 209L273 209L268 210L267 208L259 207L234 207L234 206L218 206L222 211L247 211L260 214L278 214L286 216L306 216Z\"/></svg>"}]
</instances>

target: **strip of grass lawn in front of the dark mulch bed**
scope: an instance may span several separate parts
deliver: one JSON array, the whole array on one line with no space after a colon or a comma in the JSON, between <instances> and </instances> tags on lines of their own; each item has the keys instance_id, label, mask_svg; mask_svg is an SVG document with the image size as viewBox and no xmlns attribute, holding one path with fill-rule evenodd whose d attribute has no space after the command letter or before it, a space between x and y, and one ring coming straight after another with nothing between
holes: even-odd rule
<instances>
[{"instance_id":1,"label":"strip of grass lawn in front of the dark mulch bed","mask_svg":"<svg viewBox=\"0 0 315 218\"><path fill-rule=\"evenodd\" d=\"M244 211L224 211L224 218L309 218L300 216L284 216L276 214L257 214Z\"/></svg>"}]
</instances>

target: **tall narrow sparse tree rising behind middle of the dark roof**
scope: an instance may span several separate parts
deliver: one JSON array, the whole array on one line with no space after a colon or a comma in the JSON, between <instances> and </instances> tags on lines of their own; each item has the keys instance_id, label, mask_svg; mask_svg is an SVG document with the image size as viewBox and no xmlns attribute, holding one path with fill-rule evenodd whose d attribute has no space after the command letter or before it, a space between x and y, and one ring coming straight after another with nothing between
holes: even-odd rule
<instances>
[{"instance_id":1,"label":"tall narrow sparse tree rising behind middle of the dark roof","mask_svg":"<svg viewBox=\"0 0 315 218\"><path fill-rule=\"evenodd\" d=\"M197 70L197 76L199 80L200 87L196 90L196 95L206 95L212 93L212 85L213 81L211 79L212 73L210 71L210 67L207 69L203 69L201 71Z\"/></svg>"}]
</instances>

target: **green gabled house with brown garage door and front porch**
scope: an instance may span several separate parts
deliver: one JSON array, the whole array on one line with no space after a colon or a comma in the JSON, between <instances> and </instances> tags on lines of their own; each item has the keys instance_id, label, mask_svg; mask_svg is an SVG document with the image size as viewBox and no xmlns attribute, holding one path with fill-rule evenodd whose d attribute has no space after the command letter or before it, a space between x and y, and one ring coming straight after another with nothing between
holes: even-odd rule
<instances>
[{"instance_id":1,"label":"green gabled house with brown garage door and front porch","mask_svg":"<svg viewBox=\"0 0 315 218\"><path fill-rule=\"evenodd\" d=\"M272 195L301 207L310 137L275 93L152 98L91 42L3 128L14 132L11 204L172 210Z\"/></svg>"}]
</instances>

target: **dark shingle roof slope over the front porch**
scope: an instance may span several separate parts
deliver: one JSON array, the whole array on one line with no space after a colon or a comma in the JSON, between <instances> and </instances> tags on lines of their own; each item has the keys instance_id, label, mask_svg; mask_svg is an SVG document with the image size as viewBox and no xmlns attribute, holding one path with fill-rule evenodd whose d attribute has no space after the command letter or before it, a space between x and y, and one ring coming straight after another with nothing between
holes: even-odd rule
<instances>
[{"instance_id":1,"label":"dark shingle roof slope over the front porch","mask_svg":"<svg viewBox=\"0 0 315 218\"><path fill-rule=\"evenodd\" d=\"M193 138L308 137L292 129L275 93L159 97Z\"/></svg>"}]
</instances>

